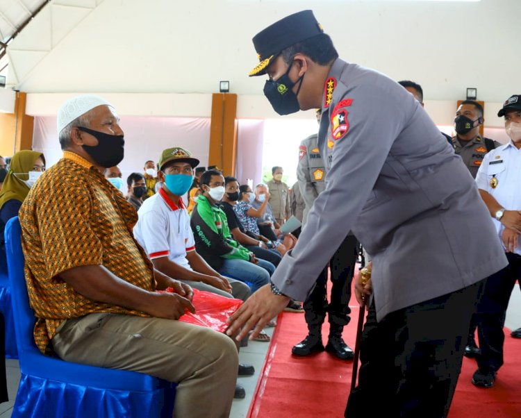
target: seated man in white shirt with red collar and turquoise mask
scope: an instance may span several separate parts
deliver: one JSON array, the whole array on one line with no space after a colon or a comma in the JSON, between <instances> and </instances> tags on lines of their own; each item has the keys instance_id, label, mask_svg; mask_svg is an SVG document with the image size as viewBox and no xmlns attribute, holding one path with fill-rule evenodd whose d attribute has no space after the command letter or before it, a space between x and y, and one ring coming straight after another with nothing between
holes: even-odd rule
<instances>
[{"instance_id":1,"label":"seated man in white shirt with red collar and turquoise mask","mask_svg":"<svg viewBox=\"0 0 521 418\"><path fill-rule=\"evenodd\" d=\"M221 276L195 251L190 215L181 196L192 185L197 158L180 147L165 149L159 161L158 193L143 202L133 233L154 267L198 290L245 301L249 287Z\"/></svg>"}]
</instances>

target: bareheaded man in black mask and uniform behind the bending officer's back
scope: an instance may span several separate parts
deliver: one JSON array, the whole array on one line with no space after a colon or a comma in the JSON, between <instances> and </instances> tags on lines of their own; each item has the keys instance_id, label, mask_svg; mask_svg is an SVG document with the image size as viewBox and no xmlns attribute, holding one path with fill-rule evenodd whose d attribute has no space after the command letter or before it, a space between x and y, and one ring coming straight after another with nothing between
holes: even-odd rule
<instances>
[{"instance_id":1,"label":"bareheaded man in black mask and uniform behind the bending officer's back","mask_svg":"<svg viewBox=\"0 0 521 418\"><path fill-rule=\"evenodd\" d=\"M483 106L473 100L461 102L454 117L456 136L452 138L452 145L474 178L486 153L501 146L499 142L479 135L483 122Z\"/></svg>"}]
</instances>

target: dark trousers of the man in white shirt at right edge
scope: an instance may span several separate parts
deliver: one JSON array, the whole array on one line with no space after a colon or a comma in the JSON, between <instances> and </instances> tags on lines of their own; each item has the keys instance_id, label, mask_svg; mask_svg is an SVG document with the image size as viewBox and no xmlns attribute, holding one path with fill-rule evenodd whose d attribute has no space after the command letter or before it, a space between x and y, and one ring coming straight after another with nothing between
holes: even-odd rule
<instances>
[{"instance_id":1,"label":"dark trousers of the man in white shirt at right edge","mask_svg":"<svg viewBox=\"0 0 521 418\"><path fill-rule=\"evenodd\" d=\"M521 280L521 256L506 253L508 266L486 279L477 306L480 369L497 371L503 365L506 308L516 280Z\"/></svg>"}]
</instances>

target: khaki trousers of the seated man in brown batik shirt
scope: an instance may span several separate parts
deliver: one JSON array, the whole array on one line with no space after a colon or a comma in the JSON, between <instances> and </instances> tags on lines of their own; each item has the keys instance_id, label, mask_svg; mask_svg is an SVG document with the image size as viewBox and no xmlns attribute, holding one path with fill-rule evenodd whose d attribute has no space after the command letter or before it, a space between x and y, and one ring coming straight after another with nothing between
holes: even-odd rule
<instances>
[{"instance_id":1,"label":"khaki trousers of the seated man in brown batik shirt","mask_svg":"<svg viewBox=\"0 0 521 418\"><path fill-rule=\"evenodd\" d=\"M176 382L173 417L229 416L238 353L230 337L171 319L94 313L68 319L52 339L63 360Z\"/></svg>"}]
</instances>

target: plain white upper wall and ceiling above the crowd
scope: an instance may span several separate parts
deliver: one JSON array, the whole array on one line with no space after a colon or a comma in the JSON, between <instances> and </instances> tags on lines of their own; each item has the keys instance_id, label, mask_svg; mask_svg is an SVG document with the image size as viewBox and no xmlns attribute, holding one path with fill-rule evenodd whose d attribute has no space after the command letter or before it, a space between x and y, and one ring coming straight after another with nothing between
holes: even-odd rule
<instances>
[{"instance_id":1,"label":"plain white upper wall and ceiling above the crowd","mask_svg":"<svg viewBox=\"0 0 521 418\"><path fill-rule=\"evenodd\" d=\"M342 58L417 81L426 99L461 99L477 87L478 99L502 102L519 88L521 0L53 0L8 47L8 84L211 93L229 80L231 92L262 94L263 78L247 77L251 37L305 8Z\"/></svg>"}]
</instances>

